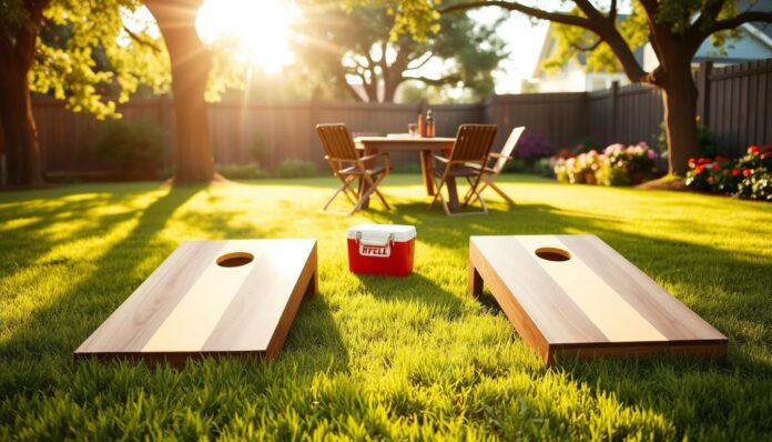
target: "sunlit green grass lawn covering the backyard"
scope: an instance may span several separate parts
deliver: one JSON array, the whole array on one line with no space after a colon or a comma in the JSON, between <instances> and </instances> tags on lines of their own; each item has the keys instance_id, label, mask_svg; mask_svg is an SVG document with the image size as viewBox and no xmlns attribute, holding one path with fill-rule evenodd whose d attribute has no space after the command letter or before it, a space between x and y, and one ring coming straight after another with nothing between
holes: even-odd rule
<instances>
[{"instance_id":1,"label":"sunlit green grass lawn covering the backyard","mask_svg":"<svg viewBox=\"0 0 772 442\"><path fill-rule=\"evenodd\" d=\"M505 178L490 214L428 212L393 175L354 217L332 179L0 193L0 440L683 439L772 434L772 207ZM341 199L339 209L345 209ZM415 224L405 279L347 270L346 230ZM730 339L725 362L660 356L546 369L490 294L466 294L473 234L595 233ZM319 295L283 353L183 369L72 351L186 239L316 238Z\"/></svg>"}]
</instances>

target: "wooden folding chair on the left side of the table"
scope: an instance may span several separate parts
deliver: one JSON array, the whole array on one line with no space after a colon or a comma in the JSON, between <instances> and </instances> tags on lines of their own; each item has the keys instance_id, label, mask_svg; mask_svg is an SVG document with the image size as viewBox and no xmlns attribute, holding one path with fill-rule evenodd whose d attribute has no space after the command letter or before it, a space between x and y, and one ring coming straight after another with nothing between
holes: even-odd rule
<instances>
[{"instance_id":1,"label":"wooden folding chair on the left side of the table","mask_svg":"<svg viewBox=\"0 0 772 442\"><path fill-rule=\"evenodd\" d=\"M333 174L341 179L342 182L341 187L333 193L333 197L324 204L323 210L327 210L335 197L341 192L354 204L354 209L348 214L359 210L362 204L373 193L378 195L386 209L390 209L384 195L378 191L378 184L388 175L392 169L388 152L359 157L346 124L317 124L316 132L319 134L319 139L322 139L325 153L327 153L324 157L325 160L329 163ZM378 157L383 157L384 165L375 163ZM374 167L368 168L368 163L373 163ZM357 178L360 180L360 187L358 190L354 190L351 188L351 184Z\"/></svg>"}]
</instances>

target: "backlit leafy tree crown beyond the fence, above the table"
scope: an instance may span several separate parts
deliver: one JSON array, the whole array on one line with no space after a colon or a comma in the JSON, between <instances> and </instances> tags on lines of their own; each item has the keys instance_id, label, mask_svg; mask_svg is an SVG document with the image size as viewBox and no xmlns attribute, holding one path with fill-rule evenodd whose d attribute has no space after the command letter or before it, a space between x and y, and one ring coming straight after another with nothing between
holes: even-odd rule
<instances>
[{"instance_id":1,"label":"backlit leafy tree crown beyond the fence, above the table","mask_svg":"<svg viewBox=\"0 0 772 442\"><path fill-rule=\"evenodd\" d=\"M366 101L394 101L399 84L414 80L430 86L469 88L477 97L494 91L491 72L507 56L496 24L481 26L465 14L426 24L413 36L399 28L396 3L301 0L296 51L312 77L333 82L360 99L353 83L362 84ZM446 2L446 4L451 4ZM443 60L438 76L418 72ZM379 93L379 89L383 91Z\"/></svg>"}]
</instances>

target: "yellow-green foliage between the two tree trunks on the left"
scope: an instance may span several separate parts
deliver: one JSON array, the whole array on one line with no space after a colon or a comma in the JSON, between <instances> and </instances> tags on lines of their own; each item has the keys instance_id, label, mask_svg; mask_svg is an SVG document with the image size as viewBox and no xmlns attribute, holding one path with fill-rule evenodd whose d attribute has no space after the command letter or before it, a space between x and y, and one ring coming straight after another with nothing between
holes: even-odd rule
<instances>
[{"instance_id":1,"label":"yellow-green foliage between the two tree trunks on the left","mask_svg":"<svg viewBox=\"0 0 772 442\"><path fill-rule=\"evenodd\" d=\"M154 92L169 89L169 58L160 37L142 23L123 29L124 18L140 7L138 0L54 0L44 10L43 27L30 70L30 89L65 100L73 111L96 118L119 115L140 84Z\"/></svg>"}]
</instances>

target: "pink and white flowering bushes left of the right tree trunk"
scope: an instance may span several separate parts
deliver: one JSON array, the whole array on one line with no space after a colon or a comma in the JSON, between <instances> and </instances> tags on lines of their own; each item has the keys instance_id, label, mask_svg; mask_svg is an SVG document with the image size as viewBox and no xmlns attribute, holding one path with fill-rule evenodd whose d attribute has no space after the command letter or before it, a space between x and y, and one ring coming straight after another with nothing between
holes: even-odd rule
<instances>
[{"instance_id":1,"label":"pink and white flowering bushes left of the right tree trunk","mask_svg":"<svg viewBox=\"0 0 772 442\"><path fill-rule=\"evenodd\" d=\"M579 154L562 150L550 161L559 182L634 185L657 173L658 157L649 144L640 142L628 147L611 144L602 153L595 149Z\"/></svg>"}]
</instances>

